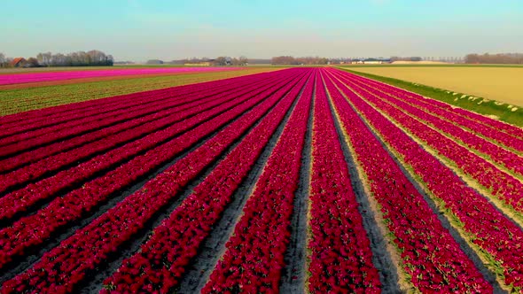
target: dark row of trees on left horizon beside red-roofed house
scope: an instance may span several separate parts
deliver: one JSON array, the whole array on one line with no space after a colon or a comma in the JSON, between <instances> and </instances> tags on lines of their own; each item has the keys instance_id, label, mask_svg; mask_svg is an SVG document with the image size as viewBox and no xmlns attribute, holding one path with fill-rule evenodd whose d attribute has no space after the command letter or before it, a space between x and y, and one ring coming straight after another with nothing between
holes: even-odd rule
<instances>
[{"instance_id":1,"label":"dark row of trees on left horizon beside red-roofed house","mask_svg":"<svg viewBox=\"0 0 523 294\"><path fill-rule=\"evenodd\" d=\"M113 66L113 56L100 50L76 51L72 53L42 52L36 58L6 58L0 53L2 67L41 67L41 66Z\"/></svg>"}]
</instances>

